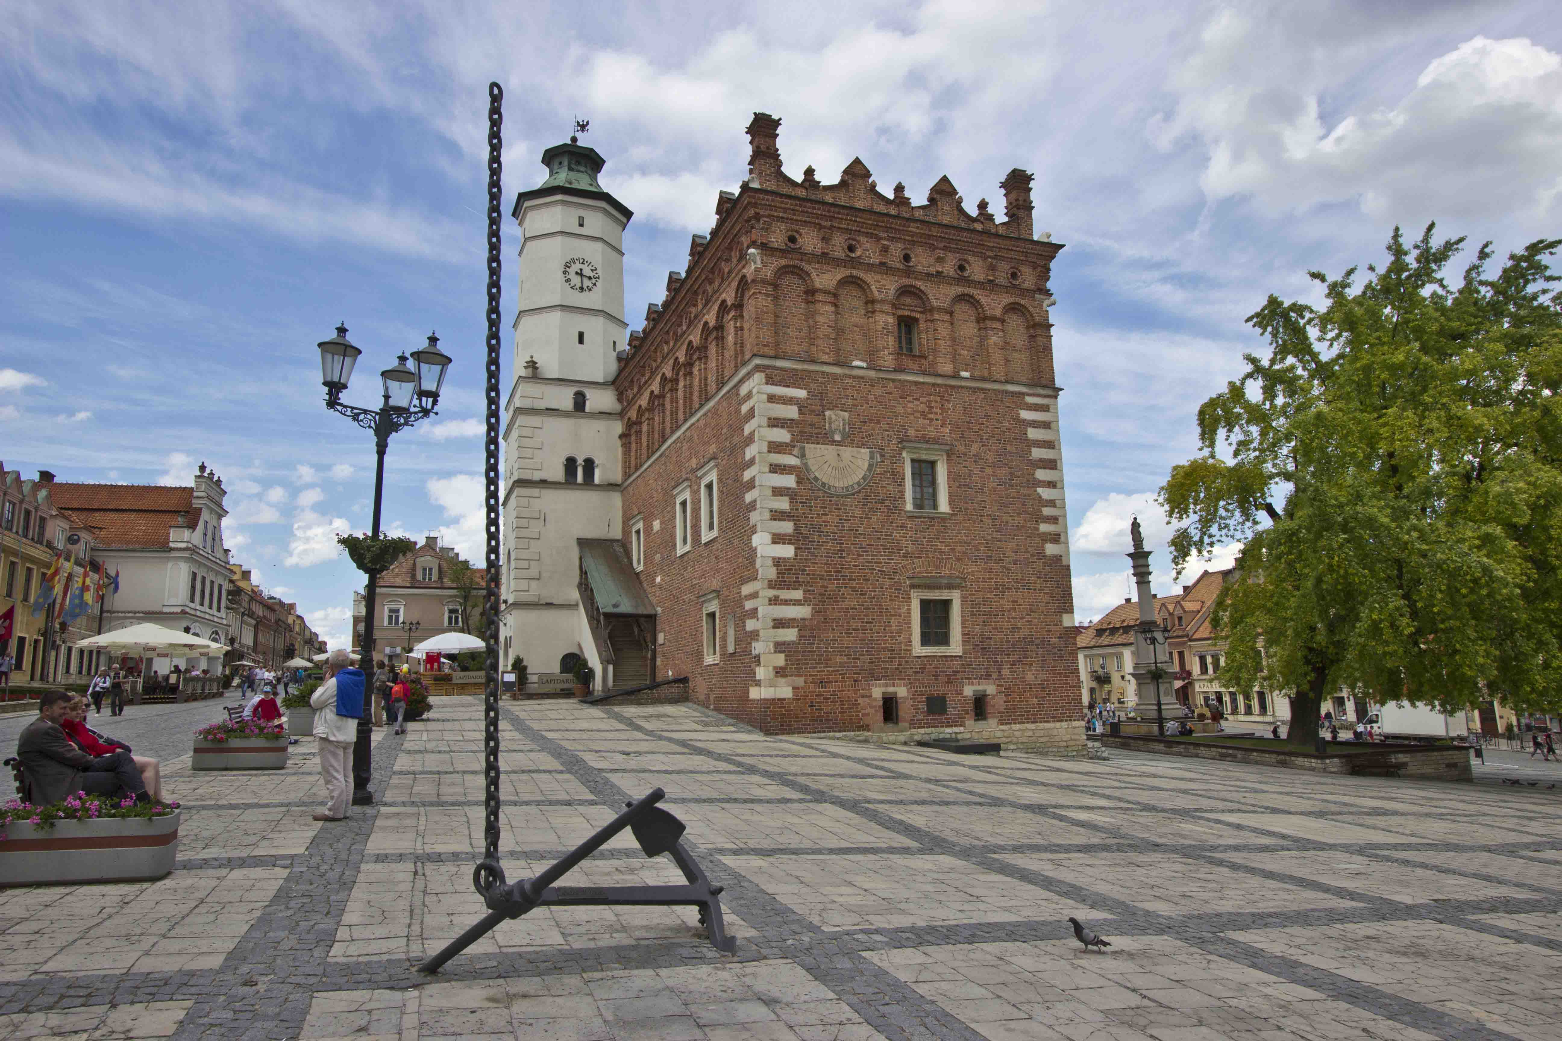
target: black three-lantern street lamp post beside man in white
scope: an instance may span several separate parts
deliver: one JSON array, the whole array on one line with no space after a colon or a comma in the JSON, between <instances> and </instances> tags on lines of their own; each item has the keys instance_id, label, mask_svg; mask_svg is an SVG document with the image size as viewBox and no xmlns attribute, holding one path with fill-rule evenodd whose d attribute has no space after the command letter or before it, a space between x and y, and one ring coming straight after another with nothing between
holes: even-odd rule
<instances>
[{"instance_id":1,"label":"black three-lantern street lamp post beside man in white","mask_svg":"<svg viewBox=\"0 0 1562 1041\"><path fill-rule=\"evenodd\" d=\"M439 350L439 337L430 334L428 346L412 351L412 364L417 371L406 367L408 357L401 354L397 364L380 373L383 401L378 409L359 409L342 404L342 392L351 379L353 365L358 362L361 350L347 340L347 326L336 326L336 336L320 342L320 373L325 384L325 407L341 412L375 435L375 509L370 534L380 537L380 501L386 484L386 446L390 435L405 431L419 420L434 415L439 404L439 387L445 382L445 370L450 367L450 356ZM359 646L358 663L373 676L375 666L375 582L380 576L367 573L369 582L364 588L364 637ZM367 684L366 684L367 687ZM370 774L370 729L372 716L367 712L367 699L372 690L364 690L366 712L358 719L358 740L353 743L353 805L366 805L375 798L369 791Z\"/></svg>"}]
</instances>

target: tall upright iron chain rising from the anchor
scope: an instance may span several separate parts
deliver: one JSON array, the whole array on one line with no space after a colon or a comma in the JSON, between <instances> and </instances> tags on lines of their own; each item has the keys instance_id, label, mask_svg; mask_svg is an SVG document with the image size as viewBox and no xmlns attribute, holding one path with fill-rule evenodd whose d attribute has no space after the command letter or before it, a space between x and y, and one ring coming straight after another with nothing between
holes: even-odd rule
<instances>
[{"instance_id":1,"label":"tall upright iron chain rising from the anchor","mask_svg":"<svg viewBox=\"0 0 1562 1041\"><path fill-rule=\"evenodd\" d=\"M472 871L472 883L487 896L505 885L498 863L498 297L500 297L500 172L503 169L505 87L489 84L489 284L487 284L487 429L484 440L483 501L487 509L487 588L483 638L487 660L483 668L483 860Z\"/></svg>"}]
</instances>

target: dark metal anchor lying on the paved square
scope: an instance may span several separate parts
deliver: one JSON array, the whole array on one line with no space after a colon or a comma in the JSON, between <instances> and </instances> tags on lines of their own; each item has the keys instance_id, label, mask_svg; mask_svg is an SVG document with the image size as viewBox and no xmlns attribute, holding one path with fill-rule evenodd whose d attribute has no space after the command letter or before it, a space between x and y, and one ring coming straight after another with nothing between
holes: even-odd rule
<instances>
[{"instance_id":1,"label":"dark metal anchor lying on the paved square","mask_svg":"<svg viewBox=\"0 0 1562 1041\"><path fill-rule=\"evenodd\" d=\"M611 824L534 879L506 885L505 871L497 863L489 860L480 863L472 872L472 882L483 894L483 902L489 908L487 916L420 965L419 971L437 972L445 961L486 936L506 918L520 918L537 907L698 907L700 924L704 926L711 946L725 954L736 950L737 941L726 935L722 924L720 896L723 886L711 885L704 871L683 847L679 840L684 833L684 822L656 805L664 794L661 788L654 788L637 802L628 802L628 808ZM626 827L647 857L672 854L673 863L683 871L687 885L553 885L570 868L590 857ZM484 882L490 882L490 885L484 888Z\"/></svg>"}]
</instances>

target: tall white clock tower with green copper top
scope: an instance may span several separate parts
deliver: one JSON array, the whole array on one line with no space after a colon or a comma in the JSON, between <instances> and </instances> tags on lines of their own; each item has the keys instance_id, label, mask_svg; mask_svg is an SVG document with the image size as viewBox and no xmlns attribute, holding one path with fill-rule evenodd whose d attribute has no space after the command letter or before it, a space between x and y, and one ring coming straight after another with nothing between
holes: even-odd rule
<instances>
[{"instance_id":1,"label":"tall white clock tower with green copper top","mask_svg":"<svg viewBox=\"0 0 1562 1041\"><path fill-rule=\"evenodd\" d=\"M619 538L619 401L625 348L623 229L604 164L578 144L542 153L548 178L515 197L520 303L506 403L503 663L553 673L583 651L576 538Z\"/></svg>"}]
</instances>

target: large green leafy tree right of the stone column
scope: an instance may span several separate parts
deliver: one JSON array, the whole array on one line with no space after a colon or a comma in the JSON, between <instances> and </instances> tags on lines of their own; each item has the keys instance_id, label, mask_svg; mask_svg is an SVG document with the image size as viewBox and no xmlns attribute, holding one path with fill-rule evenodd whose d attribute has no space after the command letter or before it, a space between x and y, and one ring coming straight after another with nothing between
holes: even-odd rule
<instances>
[{"instance_id":1,"label":"large green leafy tree right of the stone column","mask_svg":"<svg viewBox=\"0 0 1562 1041\"><path fill-rule=\"evenodd\" d=\"M1562 704L1562 293L1537 240L1487 275L1481 247L1395 229L1325 304L1268 301L1268 356L1198 410L1201 454L1161 503L1178 570L1245 542L1215 606L1221 679L1289 691L1307 724L1340 685L1445 712ZM1262 646L1262 652L1261 652ZM1311 726L1290 740L1311 744Z\"/></svg>"}]
</instances>

